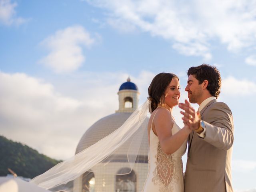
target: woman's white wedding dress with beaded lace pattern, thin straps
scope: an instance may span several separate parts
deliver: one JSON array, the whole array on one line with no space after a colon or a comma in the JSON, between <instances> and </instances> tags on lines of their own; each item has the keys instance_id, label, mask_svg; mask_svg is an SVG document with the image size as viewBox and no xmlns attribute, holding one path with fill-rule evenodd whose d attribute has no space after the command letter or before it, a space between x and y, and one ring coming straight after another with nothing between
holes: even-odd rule
<instances>
[{"instance_id":1,"label":"woman's white wedding dress with beaded lace pattern, thin straps","mask_svg":"<svg viewBox=\"0 0 256 192\"><path fill-rule=\"evenodd\" d=\"M179 126L174 121L172 134L174 135L179 130ZM186 145L187 141L173 154L165 154L162 151L158 137L152 130L151 124L148 153L149 172L143 192L184 192L181 157L185 154Z\"/></svg>"}]
</instances>

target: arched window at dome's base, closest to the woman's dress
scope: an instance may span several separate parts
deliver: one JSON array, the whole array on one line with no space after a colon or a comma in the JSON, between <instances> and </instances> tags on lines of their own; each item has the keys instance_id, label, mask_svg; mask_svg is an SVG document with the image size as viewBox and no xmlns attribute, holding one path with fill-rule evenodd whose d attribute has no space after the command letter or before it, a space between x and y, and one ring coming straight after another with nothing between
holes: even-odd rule
<instances>
[{"instance_id":1,"label":"arched window at dome's base, closest to the woman's dress","mask_svg":"<svg viewBox=\"0 0 256 192\"><path fill-rule=\"evenodd\" d=\"M117 174L129 172L130 168L122 168ZM136 174L132 170L129 174L116 175L116 192L136 192Z\"/></svg>"}]
</instances>

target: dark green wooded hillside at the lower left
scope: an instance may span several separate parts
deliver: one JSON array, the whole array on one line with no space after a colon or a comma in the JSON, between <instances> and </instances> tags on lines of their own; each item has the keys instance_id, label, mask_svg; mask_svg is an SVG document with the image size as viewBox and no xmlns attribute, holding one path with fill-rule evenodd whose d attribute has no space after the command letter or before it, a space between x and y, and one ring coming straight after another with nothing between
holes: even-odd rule
<instances>
[{"instance_id":1,"label":"dark green wooded hillside at the lower left","mask_svg":"<svg viewBox=\"0 0 256 192\"><path fill-rule=\"evenodd\" d=\"M0 136L0 176L10 174L7 170L10 168L18 176L34 178L59 162L24 144Z\"/></svg>"}]
</instances>

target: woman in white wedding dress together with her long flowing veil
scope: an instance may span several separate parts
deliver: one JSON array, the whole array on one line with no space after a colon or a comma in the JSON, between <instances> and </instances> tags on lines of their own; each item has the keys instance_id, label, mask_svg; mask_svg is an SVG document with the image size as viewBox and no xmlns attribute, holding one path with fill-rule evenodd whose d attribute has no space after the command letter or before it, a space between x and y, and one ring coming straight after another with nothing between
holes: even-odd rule
<instances>
[{"instance_id":1,"label":"woman in white wedding dress together with her long flowing veil","mask_svg":"<svg viewBox=\"0 0 256 192\"><path fill-rule=\"evenodd\" d=\"M172 117L172 108L179 102L179 89L176 75L156 75L148 88L148 100L120 128L30 182L52 191L74 192L76 179L90 174L92 168L101 174L116 174L110 165L120 149L126 154L122 156L122 163L129 164L122 174L129 174L140 154L142 138L148 133L149 172L143 191L183 192L181 156L191 130L188 126L180 129ZM149 120L148 112L151 113Z\"/></svg>"}]
</instances>

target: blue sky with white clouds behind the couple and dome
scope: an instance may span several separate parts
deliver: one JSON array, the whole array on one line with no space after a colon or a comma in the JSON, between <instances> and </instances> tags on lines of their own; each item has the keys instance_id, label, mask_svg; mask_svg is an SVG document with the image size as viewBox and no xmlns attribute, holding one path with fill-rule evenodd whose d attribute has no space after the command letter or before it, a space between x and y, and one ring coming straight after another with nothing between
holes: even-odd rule
<instances>
[{"instance_id":1,"label":"blue sky with white clouds behind the couple and dome","mask_svg":"<svg viewBox=\"0 0 256 192\"><path fill-rule=\"evenodd\" d=\"M254 0L0 0L0 135L65 160L118 110L128 76L142 104L156 74L177 74L184 102L186 71L203 63L234 117L234 189L255 192Z\"/></svg>"}]
</instances>

